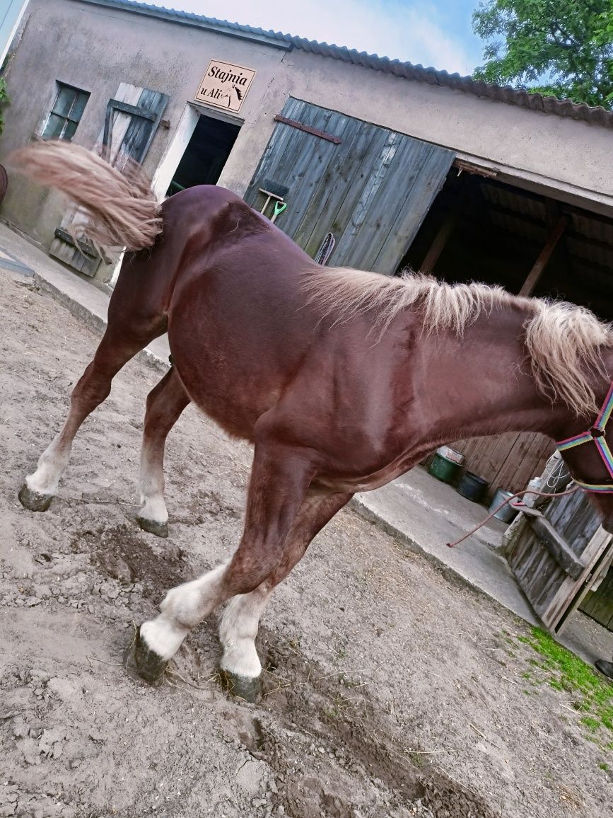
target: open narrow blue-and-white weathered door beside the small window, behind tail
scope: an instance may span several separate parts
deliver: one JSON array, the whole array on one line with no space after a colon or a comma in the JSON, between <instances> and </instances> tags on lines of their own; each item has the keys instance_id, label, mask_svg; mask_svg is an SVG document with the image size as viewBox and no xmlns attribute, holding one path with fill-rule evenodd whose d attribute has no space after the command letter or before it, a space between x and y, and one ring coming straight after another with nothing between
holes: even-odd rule
<instances>
[{"instance_id":1,"label":"open narrow blue-and-white weathered door beside the small window, behind tail","mask_svg":"<svg viewBox=\"0 0 613 818\"><path fill-rule=\"evenodd\" d=\"M128 160L141 163L149 150L168 96L150 88L121 83L114 99L106 106L105 124L98 139L101 155L123 169ZM78 207L72 207L56 229L49 253L87 276L93 276L101 258L83 242L77 247L70 231L87 217ZM83 252L84 251L84 252Z\"/></svg>"}]
</instances>

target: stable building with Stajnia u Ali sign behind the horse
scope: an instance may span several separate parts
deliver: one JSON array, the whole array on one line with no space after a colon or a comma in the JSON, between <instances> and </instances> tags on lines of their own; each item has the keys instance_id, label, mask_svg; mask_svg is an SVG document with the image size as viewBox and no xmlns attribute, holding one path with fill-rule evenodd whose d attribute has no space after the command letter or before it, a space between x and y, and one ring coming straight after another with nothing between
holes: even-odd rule
<instances>
[{"instance_id":1,"label":"stable building with Stajnia u Ali sign behind the horse","mask_svg":"<svg viewBox=\"0 0 613 818\"><path fill-rule=\"evenodd\" d=\"M34 137L98 146L160 198L230 188L320 263L613 318L611 111L131 0L29 0L5 76L0 162ZM10 178L0 218L113 284L117 258L74 245L80 214L54 191ZM553 450L517 433L457 447L492 490L524 488Z\"/></svg>"}]
</instances>

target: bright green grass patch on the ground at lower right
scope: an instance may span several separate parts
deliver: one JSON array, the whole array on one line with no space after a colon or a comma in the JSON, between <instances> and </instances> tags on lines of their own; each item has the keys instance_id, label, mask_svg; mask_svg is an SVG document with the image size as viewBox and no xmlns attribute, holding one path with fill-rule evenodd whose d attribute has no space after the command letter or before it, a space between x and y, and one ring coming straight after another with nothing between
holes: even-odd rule
<instances>
[{"instance_id":1,"label":"bright green grass patch on the ground at lower right","mask_svg":"<svg viewBox=\"0 0 613 818\"><path fill-rule=\"evenodd\" d=\"M546 631L539 627L530 629L530 636L517 636L517 640L530 645L541 657L540 663L529 659L533 667L540 667L548 673L548 684L554 690L565 691L573 697L575 710L585 713L579 719L590 733L600 730L613 731L613 685L602 681L592 668L570 650L558 645ZM530 679L530 672L522 673L522 678ZM527 693L527 691L524 691ZM613 742L605 744L613 749Z\"/></svg>"}]
</instances>

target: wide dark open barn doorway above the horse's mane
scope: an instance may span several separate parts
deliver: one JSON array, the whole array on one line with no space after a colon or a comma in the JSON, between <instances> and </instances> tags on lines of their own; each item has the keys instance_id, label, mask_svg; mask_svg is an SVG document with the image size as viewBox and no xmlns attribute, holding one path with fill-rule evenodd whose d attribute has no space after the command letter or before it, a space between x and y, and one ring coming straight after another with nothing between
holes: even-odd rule
<instances>
[{"instance_id":1,"label":"wide dark open barn doorway above the horse's mane","mask_svg":"<svg viewBox=\"0 0 613 818\"><path fill-rule=\"evenodd\" d=\"M613 319L613 218L457 167L400 266L566 299Z\"/></svg>"}]
</instances>

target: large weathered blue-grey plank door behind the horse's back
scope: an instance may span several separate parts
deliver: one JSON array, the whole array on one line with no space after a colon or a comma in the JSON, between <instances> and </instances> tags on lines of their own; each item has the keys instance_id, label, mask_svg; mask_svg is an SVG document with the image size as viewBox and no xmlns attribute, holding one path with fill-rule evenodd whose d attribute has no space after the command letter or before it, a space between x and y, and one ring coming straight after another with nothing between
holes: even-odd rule
<instances>
[{"instance_id":1,"label":"large weathered blue-grey plank door behind the horse's back","mask_svg":"<svg viewBox=\"0 0 613 818\"><path fill-rule=\"evenodd\" d=\"M311 257L332 233L329 263L396 272L454 152L296 99L279 119L249 205L262 209L266 185L287 190L276 223Z\"/></svg>"}]
</instances>

